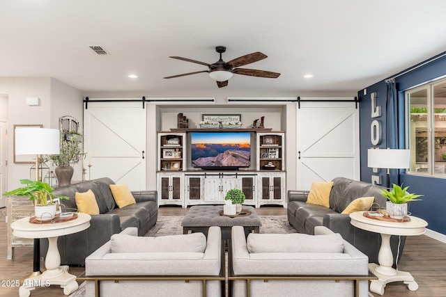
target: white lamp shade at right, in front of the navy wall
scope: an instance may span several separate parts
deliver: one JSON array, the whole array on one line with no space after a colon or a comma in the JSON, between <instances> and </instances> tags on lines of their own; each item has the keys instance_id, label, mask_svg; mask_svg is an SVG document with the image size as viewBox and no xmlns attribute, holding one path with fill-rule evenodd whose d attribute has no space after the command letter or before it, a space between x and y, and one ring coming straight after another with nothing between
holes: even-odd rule
<instances>
[{"instance_id":1,"label":"white lamp shade at right, in front of the navy wall","mask_svg":"<svg viewBox=\"0 0 446 297\"><path fill-rule=\"evenodd\" d=\"M409 168L410 150L369 149L367 154L370 168Z\"/></svg>"}]
</instances>

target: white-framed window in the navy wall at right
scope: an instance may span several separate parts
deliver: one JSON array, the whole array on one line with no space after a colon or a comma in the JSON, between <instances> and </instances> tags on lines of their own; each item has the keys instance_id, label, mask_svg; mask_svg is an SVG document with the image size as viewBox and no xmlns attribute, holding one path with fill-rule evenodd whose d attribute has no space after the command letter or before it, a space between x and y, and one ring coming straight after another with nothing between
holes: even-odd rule
<instances>
[{"instance_id":1,"label":"white-framed window in the navy wall at right","mask_svg":"<svg viewBox=\"0 0 446 297\"><path fill-rule=\"evenodd\" d=\"M446 176L446 79L406 91L409 172Z\"/></svg>"}]
</instances>

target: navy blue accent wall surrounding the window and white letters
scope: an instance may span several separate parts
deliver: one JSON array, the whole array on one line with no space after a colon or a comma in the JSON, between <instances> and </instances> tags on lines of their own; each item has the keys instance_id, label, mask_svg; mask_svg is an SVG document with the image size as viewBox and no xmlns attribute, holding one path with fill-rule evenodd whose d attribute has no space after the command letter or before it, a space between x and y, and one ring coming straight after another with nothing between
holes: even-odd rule
<instances>
[{"instance_id":1,"label":"navy blue accent wall surrounding the window and white letters","mask_svg":"<svg viewBox=\"0 0 446 297\"><path fill-rule=\"evenodd\" d=\"M406 136L405 127L405 99L404 90L413 88L413 86L432 81L438 77L446 75L446 56L439 54L435 61L418 67L417 69L403 74L397 79L398 92L398 116L399 117L399 132L398 137L400 145L404 145ZM443 57L441 57L443 56ZM431 60L431 59L429 59ZM420 63L422 64L422 63ZM405 72L405 71L403 71ZM401 72L401 73L403 73ZM397 74L395 74L396 76ZM376 92L377 106L381 106L380 118L371 118L371 101L370 94ZM371 168L367 167L367 149L374 147L371 144L370 126L372 120L379 120L383 132L383 138L380 145L376 147L385 148L385 101L387 93L387 84L385 81L379 81L367 88L367 95L364 95L364 90L358 92L360 99L360 150L361 150L361 180L364 182L371 182L371 175L374 174ZM401 147L401 146L400 146ZM376 175L376 174L374 174ZM378 175L381 176L383 185L385 185L385 170L380 169ZM404 186L410 186L410 193L422 194L422 201L413 202L410 205L410 212L414 216L424 218L429 223L430 230L446 234L446 178L426 177L420 175L401 174L400 182Z\"/></svg>"}]
</instances>

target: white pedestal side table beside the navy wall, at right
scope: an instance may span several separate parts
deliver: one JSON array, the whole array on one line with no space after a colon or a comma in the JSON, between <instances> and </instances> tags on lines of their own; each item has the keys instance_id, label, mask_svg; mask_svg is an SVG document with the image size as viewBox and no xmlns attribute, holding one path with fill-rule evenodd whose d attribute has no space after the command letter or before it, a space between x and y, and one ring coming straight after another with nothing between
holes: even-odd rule
<instances>
[{"instance_id":1,"label":"white pedestal side table beside the navy wall, at right","mask_svg":"<svg viewBox=\"0 0 446 297\"><path fill-rule=\"evenodd\" d=\"M392 268L393 255L390 248L390 236L415 236L426 232L427 222L422 218L410 216L408 222L389 222L376 220L364 216L364 211L356 211L350 214L351 224L362 230L376 232L381 235L381 246L378 253L378 264L369 263L369 271L378 277L378 280L371 280L370 291L383 295L385 285L389 282L404 282L410 291L416 291L418 284L410 273L397 271Z\"/></svg>"}]
</instances>

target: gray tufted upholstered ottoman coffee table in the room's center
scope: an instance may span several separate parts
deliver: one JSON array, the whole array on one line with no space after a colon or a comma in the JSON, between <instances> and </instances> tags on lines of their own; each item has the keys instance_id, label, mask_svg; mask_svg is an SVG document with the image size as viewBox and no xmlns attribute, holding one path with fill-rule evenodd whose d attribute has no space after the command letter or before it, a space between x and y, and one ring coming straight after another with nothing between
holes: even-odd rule
<instances>
[{"instance_id":1,"label":"gray tufted upholstered ottoman coffee table in the room's center","mask_svg":"<svg viewBox=\"0 0 446 297\"><path fill-rule=\"evenodd\" d=\"M186 216L181 222L183 234L189 232L203 232L207 236L210 226L219 226L222 229L222 239L231 239L231 229L233 226L243 226L245 234L259 233L259 227L262 225L256 209L243 205L242 209L251 211L249 216L238 216L231 218L220 215L223 205L196 205L187 211Z\"/></svg>"}]
</instances>

